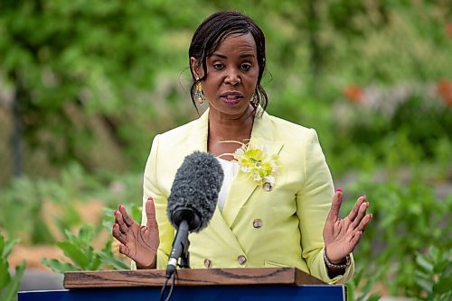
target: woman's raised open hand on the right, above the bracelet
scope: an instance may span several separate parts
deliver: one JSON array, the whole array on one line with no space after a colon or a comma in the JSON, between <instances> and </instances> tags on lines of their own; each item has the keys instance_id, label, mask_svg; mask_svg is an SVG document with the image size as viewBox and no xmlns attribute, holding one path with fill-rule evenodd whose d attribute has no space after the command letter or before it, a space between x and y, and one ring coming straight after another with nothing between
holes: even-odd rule
<instances>
[{"instance_id":1,"label":"woman's raised open hand on the right, above the bracelet","mask_svg":"<svg viewBox=\"0 0 452 301\"><path fill-rule=\"evenodd\" d=\"M369 207L366 196L358 197L350 214L341 219L339 211L343 197L341 190L335 192L324 228L326 256L335 264L343 262L345 257L353 252L366 226L372 220L372 214L366 214Z\"/></svg>"}]
</instances>

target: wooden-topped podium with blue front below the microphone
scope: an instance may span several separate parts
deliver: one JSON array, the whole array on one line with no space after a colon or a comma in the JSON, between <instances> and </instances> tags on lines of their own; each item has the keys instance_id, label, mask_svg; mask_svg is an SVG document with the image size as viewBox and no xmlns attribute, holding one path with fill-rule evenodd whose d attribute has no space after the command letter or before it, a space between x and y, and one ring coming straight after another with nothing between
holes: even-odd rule
<instances>
[{"instance_id":1,"label":"wooden-topped podium with blue front below the microphone","mask_svg":"<svg viewBox=\"0 0 452 301\"><path fill-rule=\"evenodd\" d=\"M18 301L160 300L164 282L162 269L67 272L66 289L19 292ZM171 300L342 301L346 287L295 268L178 269Z\"/></svg>"}]
</instances>

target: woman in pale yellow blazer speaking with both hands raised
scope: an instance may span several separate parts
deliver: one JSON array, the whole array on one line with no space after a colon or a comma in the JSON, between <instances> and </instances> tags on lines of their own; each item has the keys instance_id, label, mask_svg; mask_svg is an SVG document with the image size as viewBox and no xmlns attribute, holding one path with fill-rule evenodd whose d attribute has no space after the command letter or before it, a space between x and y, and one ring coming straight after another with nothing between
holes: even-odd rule
<instances>
[{"instance_id":1,"label":"woman in pale yellow blazer speaking with both hands raised","mask_svg":"<svg viewBox=\"0 0 452 301\"><path fill-rule=\"evenodd\" d=\"M174 238L166 199L184 157L202 150L219 158L225 181L209 226L190 235L193 268L289 266L328 283L346 282L353 275L351 253L372 219L369 203L359 197L340 219L343 194L334 193L315 131L265 112L259 26L240 13L212 14L194 32L189 59L193 104L206 101L209 109L155 136L146 163L143 225L122 205L115 212L119 251L138 269L165 268ZM250 177L249 167L234 161L233 154L243 156L247 147L266 150L265 178Z\"/></svg>"}]
</instances>

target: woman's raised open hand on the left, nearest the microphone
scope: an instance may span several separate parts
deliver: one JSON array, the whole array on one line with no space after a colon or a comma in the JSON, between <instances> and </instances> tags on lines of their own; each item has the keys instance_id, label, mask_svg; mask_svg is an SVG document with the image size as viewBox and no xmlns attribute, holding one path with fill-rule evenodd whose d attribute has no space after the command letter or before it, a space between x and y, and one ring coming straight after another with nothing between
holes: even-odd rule
<instances>
[{"instance_id":1,"label":"woman's raised open hand on the left, nearest the microphone","mask_svg":"<svg viewBox=\"0 0 452 301\"><path fill-rule=\"evenodd\" d=\"M146 201L146 226L132 220L123 205L114 214L113 237L121 242L119 252L137 262L137 269L155 269L160 241L153 198Z\"/></svg>"}]
</instances>

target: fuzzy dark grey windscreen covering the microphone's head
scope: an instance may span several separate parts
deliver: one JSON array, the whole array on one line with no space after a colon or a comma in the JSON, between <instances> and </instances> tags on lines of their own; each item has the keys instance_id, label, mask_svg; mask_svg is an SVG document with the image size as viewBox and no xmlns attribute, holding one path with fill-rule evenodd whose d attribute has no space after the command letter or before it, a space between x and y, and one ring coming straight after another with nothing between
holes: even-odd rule
<instances>
[{"instance_id":1,"label":"fuzzy dark grey windscreen covering the microphone's head","mask_svg":"<svg viewBox=\"0 0 452 301\"><path fill-rule=\"evenodd\" d=\"M194 151L185 157L174 177L168 197L167 214L175 228L181 211L194 212L197 221L190 231L199 232L212 218L224 175L220 162L212 154Z\"/></svg>"}]
</instances>

